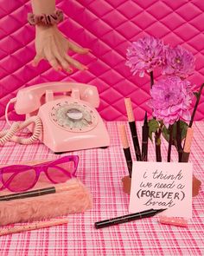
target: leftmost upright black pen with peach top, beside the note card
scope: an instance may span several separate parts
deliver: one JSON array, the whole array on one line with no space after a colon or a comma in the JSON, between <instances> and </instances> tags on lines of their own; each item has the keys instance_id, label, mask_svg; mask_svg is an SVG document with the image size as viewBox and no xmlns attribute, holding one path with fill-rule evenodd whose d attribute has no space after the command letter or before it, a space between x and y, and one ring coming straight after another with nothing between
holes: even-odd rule
<instances>
[{"instance_id":1,"label":"leftmost upright black pen with peach top, beside the note card","mask_svg":"<svg viewBox=\"0 0 204 256\"><path fill-rule=\"evenodd\" d=\"M124 125L119 125L118 130L119 130L120 139L122 141L122 145L123 145L123 148L124 148L124 156L125 156L125 160L126 160L126 163L127 163L129 176L131 178L131 171L132 171L131 150L130 150L130 147L129 147L127 134L126 134Z\"/></svg>"}]
</instances>

